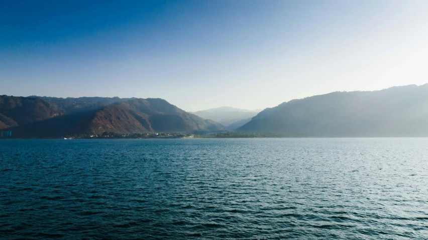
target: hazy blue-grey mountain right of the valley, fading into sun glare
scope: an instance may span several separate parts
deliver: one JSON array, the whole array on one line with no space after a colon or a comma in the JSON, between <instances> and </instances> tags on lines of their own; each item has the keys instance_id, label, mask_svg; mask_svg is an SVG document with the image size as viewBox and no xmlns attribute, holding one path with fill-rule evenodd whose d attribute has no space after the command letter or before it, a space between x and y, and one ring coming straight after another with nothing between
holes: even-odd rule
<instances>
[{"instance_id":1,"label":"hazy blue-grey mountain right of the valley, fading into sun glare","mask_svg":"<svg viewBox=\"0 0 428 240\"><path fill-rule=\"evenodd\" d=\"M428 84L292 100L265 109L237 131L320 137L428 136Z\"/></svg>"}]
</instances>

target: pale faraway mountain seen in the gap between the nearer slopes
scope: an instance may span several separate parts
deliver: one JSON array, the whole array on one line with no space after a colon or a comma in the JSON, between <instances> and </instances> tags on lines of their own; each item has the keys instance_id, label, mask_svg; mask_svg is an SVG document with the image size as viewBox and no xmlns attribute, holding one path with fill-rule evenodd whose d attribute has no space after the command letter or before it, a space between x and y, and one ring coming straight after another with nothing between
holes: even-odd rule
<instances>
[{"instance_id":1,"label":"pale faraway mountain seen in the gap between the nearer slopes","mask_svg":"<svg viewBox=\"0 0 428 240\"><path fill-rule=\"evenodd\" d=\"M216 121L222 124L223 126L226 126L226 129L230 129L229 126L231 124L234 124L233 126L231 126L232 128L234 128L234 126L237 126L236 125L237 123L240 123L245 119L256 116L258 112L260 112L260 110L245 110L245 109L232 108L232 107L220 107L220 108L212 108L212 109L193 112L193 114L204 119L210 119L210 120ZM240 127L240 126L242 125L239 125L237 127ZM237 127L235 127L235 129Z\"/></svg>"}]
</instances>

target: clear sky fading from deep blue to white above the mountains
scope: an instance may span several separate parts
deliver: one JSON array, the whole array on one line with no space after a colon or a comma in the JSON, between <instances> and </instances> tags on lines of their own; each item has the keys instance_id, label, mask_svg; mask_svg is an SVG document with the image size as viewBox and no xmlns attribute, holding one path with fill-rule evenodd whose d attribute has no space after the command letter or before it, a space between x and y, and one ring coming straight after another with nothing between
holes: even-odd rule
<instances>
[{"instance_id":1,"label":"clear sky fading from deep blue to white above the mountains","mask_svg":"<svg viewBox=\"0 0 428 240\"><path fill-rule=\"evenodd\" d=\"M0 94L263 109L428 83L428 1L2 1Z\"/></svg>"}]
</instances>

